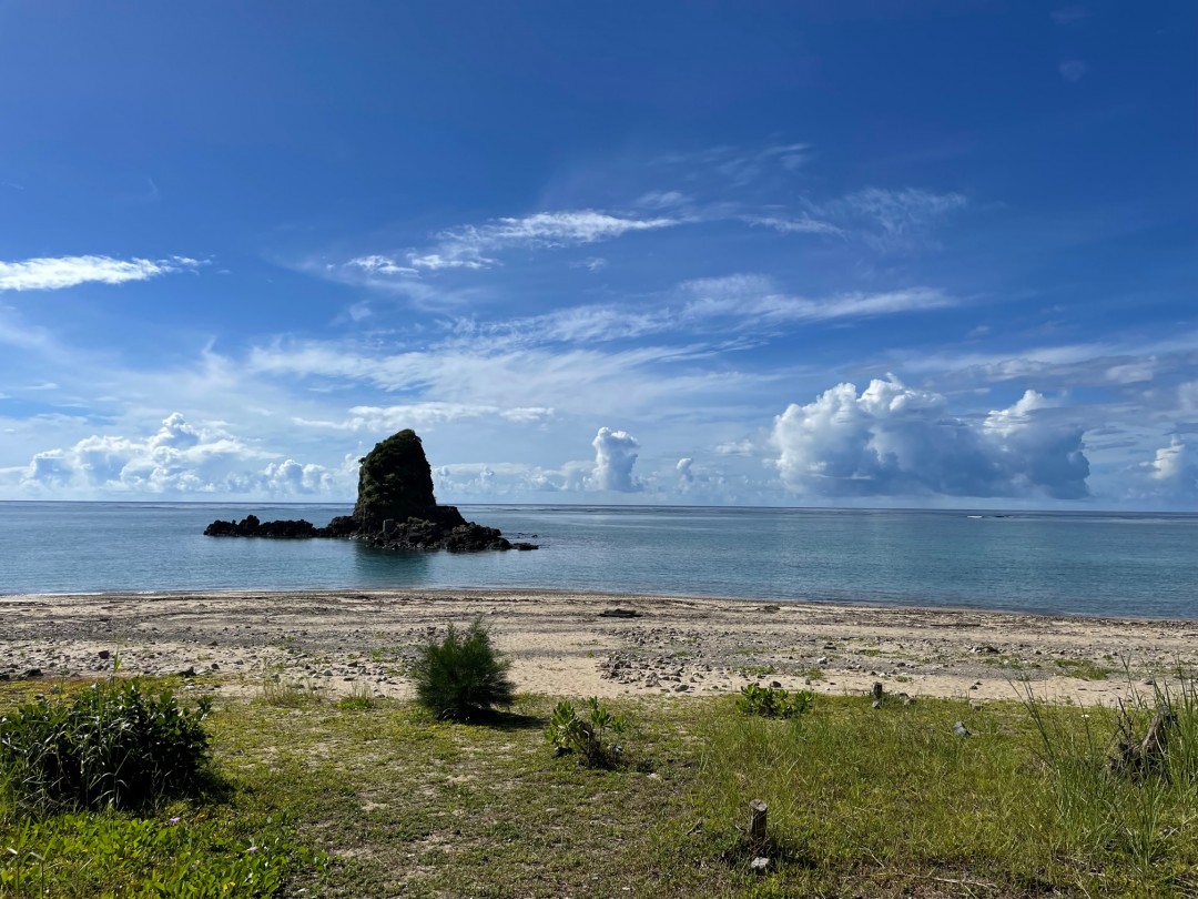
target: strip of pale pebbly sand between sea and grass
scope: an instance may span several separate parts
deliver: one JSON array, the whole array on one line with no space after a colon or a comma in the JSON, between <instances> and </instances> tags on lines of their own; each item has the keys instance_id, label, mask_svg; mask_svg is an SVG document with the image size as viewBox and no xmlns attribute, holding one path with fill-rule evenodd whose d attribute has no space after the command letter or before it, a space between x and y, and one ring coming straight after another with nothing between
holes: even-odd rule
<instances>
[{"instance_id":1,"label":"strip of pale pebbly sand between sea and grass","mask_svg":"<svg viewBox=\"0 0 1198 899\"><path fill-rule=\"evenodd\" d=\"M635 619L603 617L612 608ZM0 677L216 675L329 694L407 696L418 645L480 616L520 692L565 696L715 694L778 682L822 693L1113 704L1198 658L1198 622L531 591L322 591L0 597ZM1089 659L1106 681L1066 676ZM1124 672L1126 659L1133 677ZM816 676L813 676L816 675ZM205 678L211 682L211 678ZM810 681L810 682L809 682Z\"/></svg>"}]
</instances>

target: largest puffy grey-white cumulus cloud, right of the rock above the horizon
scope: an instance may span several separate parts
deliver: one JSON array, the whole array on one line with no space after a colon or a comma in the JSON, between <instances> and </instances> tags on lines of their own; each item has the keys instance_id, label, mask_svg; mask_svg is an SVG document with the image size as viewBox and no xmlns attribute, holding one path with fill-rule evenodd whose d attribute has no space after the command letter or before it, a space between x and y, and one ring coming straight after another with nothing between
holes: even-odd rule
<instances>
[{"instance_id":1,"label":"largest puffy grey-white cumulus cloud, right of the rock above the horizon","mask_svg":"<svg viewBox=\"0 0 1198 899\"><path fill-rule=\"evenodd\" d=\"M1035 391L975 423L890 375L860 394L840 384L792 404L773 438L782 481L800 493L1081 499L1090 470L1082 433Z\"/></svg>"}]
</instances>

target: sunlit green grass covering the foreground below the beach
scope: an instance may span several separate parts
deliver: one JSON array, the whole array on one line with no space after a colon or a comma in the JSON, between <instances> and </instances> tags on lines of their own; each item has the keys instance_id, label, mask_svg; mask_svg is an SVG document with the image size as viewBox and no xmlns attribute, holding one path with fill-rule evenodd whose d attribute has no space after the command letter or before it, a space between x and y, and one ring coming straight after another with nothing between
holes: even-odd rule
<instances>
[{"instance_id":1,"label":"sunlit green grass covering the foreground below the beach","mask_svg":"<svg viewBox=\"0 0 1198 899\"><path fill-rule=\"evenodd\" d=\"M0 713L18 689L28 688L0 684ZM145 819L35 823L0 804L0 871L19 868L26 885L40 865L63 883L71 871L108 871L52 894L135 894L170 876L169 853L104 862L99 837L69 834L90 827L115 834L111 844L146 828L146 845L173 845L177 816L210 873L255 856L252 845L274 846L289 895L1193 897L1193 683L1169 699L1169 767L1136 779L1107 766L1115 712L1034 695L981 711L818 696L792 720L746 717L731 696L613 700L605 705L629 726L612 771L553 758L543 736L553 698L518 696L508 714L460 724L379 698L260 695L220 702L206 723L226 795ZM1130 706L1140 732L1155 701ZM972 736L954 734L957 720ZM762 875L743 834L754 798L769 807ZM55 833L75 839L71 853ZM4 882L0 895L41 894Z\"/></svg>"}]
</instances>

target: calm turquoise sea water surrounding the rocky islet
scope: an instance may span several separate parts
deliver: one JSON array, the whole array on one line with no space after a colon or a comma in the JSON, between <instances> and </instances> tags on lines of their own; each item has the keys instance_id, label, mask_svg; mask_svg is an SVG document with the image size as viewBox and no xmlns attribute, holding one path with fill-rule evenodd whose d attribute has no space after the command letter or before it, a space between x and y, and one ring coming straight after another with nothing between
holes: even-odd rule
<instances>
[{"instance_id":1,"label":"calm turquoise sea water surrounding the rocky islet","mask_svg":"<svg viewBox=\"0 0 1198 899\"><path fill-rule=\"evenodd\" d=\"M1198 515L462 506L536 553L204 537L345 505L0 502L0 593L528 587L1198 619ZM980 517L978 517L980 515Z\"/></svg>"}]
</instances>

